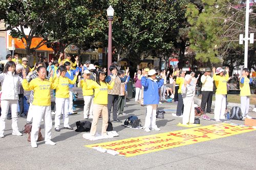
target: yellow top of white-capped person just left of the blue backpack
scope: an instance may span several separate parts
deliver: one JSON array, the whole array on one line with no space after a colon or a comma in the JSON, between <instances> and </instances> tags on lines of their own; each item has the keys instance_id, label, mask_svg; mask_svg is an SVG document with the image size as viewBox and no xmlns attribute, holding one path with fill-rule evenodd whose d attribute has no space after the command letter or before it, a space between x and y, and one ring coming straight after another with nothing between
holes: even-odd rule
<instances>
[{"instance_id":1,"label":"yellow top of white-capped person just left of the blue backpack","mask_svg":"<svg viewBox=\"0 0 256 170\"><path fill-rule=\"evenodd\" d=\"M229 75L228 73L226 76L219 76L214 74L214 81L215 85L217 87L216 94L227 94L227 81L228 81Z\"/></svg>"}]
</instances>

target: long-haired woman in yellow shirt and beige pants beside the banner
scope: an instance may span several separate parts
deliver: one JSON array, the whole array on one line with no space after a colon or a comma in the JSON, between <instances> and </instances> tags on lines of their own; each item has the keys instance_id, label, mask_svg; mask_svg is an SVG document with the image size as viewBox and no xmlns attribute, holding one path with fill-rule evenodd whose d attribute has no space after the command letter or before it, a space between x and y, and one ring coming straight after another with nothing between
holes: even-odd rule
<instances>
[{"instance_id":1,"label":"long-haired woman in yellow shirt and beige pants beside the banner","mask_svg":"<svg viewBox=\"0 0 256 170\"><path fill-rule=\"evenodd\" d=\"M112 79L116 78L116 73L113 74ZM94 89L94 100L93 100L93 122L90 131L90 138L93 138L96 133L97 123L100 113L102 113L102 129L101 135L108 137L106 134L106 128L108 127L108 89L112 89L114 82L111 84L105 82L105 70L99 69L96 74L96 82L88 81L85 79L83 82L84 89ZM90 84L89 84L90 83ZM84 134L87 135L87 134Z\"/></svg>"}]
</instances>

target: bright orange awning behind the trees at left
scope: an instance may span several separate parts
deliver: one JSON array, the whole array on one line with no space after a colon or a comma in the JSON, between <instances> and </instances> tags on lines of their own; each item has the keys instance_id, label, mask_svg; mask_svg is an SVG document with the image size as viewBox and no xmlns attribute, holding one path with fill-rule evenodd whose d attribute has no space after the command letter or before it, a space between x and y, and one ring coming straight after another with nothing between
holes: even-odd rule
<instances>
[{"instance_id":1,"label":"bright orange awning behind the trees at left","mask_svg":"<svg viewBox=\"0 0 256 170\"><path fill-rule=\"evenodd\" d=\"M22 42L22 39L19 38L12 38L12 36L9 35L9 46L12 46L12 40L14 39L14 45L15 48L19 49L25 49L25 45ZM41 42L42 38L32 38L31 48L36 47L36 45ZM24 43L26 43L26 40L23 38ZM37 48L36 50L41 51L51 51L53 52L52 48L48 48L46 45L42 45L41 47Z\"/></svg>"}]
</instances>

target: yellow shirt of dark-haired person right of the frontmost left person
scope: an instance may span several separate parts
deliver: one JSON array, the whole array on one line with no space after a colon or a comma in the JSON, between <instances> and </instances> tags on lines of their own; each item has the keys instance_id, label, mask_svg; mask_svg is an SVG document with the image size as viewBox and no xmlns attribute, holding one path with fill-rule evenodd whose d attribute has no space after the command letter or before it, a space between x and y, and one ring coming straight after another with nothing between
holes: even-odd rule
<instances>
[{"instance_id":1,"label":"yellow shirt of dark-haired person right of the frontmost left person","mask_svg":"<svg viewBox=\"0 0 256 170\"><path fill-rule=\"evenodd\" d=\"M54 82L57 77L54 78ZM69 98L69 84L75 84L77 80L77 76L74 77L73 80L70 80L67 77L60 76L58 78L58 86L56 88L56 98Z\"/></svg>"}]
</instances>

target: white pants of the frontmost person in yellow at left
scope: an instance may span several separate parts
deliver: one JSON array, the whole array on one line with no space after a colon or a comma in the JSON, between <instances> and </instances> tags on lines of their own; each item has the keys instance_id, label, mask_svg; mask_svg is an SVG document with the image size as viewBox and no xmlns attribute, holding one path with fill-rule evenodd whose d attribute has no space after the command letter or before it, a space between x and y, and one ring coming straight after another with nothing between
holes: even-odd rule
<instances>
[{"instance_id":1,"label":"white pants of the frontmost person in yellow at left","mask_svg":"<svg viewBox=\"0 0 256 170\"><path fill-rule=\"evenodd\" d=\"M38 138L38 131L41 123L41 119L45 122L45 141L52 138L52 114L51 106L35 106L33 110L36 110L33 114L33 123L31 130L31 142L36 142Z\"/></svg>"}]
</instances>

